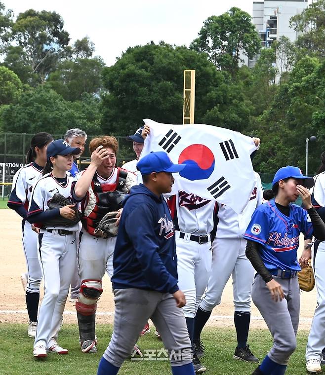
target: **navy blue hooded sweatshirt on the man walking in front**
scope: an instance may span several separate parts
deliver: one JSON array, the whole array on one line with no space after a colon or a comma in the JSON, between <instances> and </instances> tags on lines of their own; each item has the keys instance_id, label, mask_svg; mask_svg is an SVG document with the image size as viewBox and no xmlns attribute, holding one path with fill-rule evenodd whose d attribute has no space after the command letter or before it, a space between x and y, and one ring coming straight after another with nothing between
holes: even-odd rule
<instances>
[{"instance_id":1,"label":"navy blue hooded sweatshirt on the man walking in front","mask_svg":"<svg viewBox=\"0 0 325 375\"><path fill-rule=\"evenodd\" d=\"M113 289L178 290L174 225L166 202L144 185L125 199L114 250Z\"/></svg>"}]
</instances>

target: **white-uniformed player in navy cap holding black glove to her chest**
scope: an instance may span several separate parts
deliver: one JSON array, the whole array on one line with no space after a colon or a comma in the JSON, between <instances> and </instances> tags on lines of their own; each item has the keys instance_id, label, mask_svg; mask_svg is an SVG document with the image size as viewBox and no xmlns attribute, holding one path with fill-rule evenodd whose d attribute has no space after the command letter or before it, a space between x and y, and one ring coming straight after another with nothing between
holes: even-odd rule
<instances>
[{"instance_id":1,"label":"white-uniformed player in navy cap holding black glove to her chest","mask_svg":"<svg viewBox=\"0 0 325 375\"><path fill-rule=\"evenodd\" d=\"M70 147L63 139L52 142L46 150L47 163L43 177L35 184L28 208L27 220L40 228L39 252L44 276L44 297L40 307L33 355L46 357L47 352L67 354L57 343L57 335L76 264L76 231L79 230L72 185L67 175L73 155L79 148ZM60 193L71 204L50 209L53 195Z\"/></svg>"}]
</instances>

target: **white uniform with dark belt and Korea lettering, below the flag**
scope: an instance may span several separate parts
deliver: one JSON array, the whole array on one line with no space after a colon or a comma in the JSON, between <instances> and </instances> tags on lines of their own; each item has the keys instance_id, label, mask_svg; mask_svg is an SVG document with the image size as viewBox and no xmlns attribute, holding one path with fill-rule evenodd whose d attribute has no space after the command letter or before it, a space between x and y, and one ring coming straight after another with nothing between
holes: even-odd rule
<instances>
[{"instance_id":1,"label":"white uniform with dark belt and Korea lettering, below the flag","mask_svg":"<svg viewBox=\"0 0 325 375\"><path fill-rule=\"evenodd\" d=\"M211 270L215 201L178 191L169 197L168 206L176 229L178 286L186 297L183 310L185 317L194 318Z\"/></svg>"}]
</instances>

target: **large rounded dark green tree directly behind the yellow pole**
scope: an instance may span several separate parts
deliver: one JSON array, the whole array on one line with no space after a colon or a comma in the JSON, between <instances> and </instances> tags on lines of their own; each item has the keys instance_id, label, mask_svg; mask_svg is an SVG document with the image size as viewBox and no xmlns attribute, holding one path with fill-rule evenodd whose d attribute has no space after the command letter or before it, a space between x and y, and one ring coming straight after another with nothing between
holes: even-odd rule
<instances>
[{"instance_id":1,"label":"large rounded dark green tree directly behind the yellow pole","mask_svg":"<svg viewBox=\"0 0 325 375\"><path fill-rule=\"evenodd\" d=\"M131 134L143 118L181 123L185 69L196 70L195 122L242 130L247 113L231 76L204 54L163 42L128 48L114 66L104 68L103 129Z\"/></svg>"}]
</instances>

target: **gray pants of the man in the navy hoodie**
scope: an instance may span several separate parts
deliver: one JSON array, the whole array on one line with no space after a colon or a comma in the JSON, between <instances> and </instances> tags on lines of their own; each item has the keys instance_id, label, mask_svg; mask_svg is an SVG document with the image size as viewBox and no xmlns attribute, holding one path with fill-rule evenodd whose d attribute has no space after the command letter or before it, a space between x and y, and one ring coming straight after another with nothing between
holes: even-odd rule
<instances>
[{"instance_id":1,"label":"gray pants of the man in the navy hoodie","mask_svg":"<svg viewBox=\"0 0 325 375\"><path fill-rule=\"evenodd\" d=\"M151 318L169 353L171 366L192 362L184 312L171 294L135 288L115 289L114 330L103 357L116 367L130 356L144 325Z\"/></svg>"}]
</instances>

